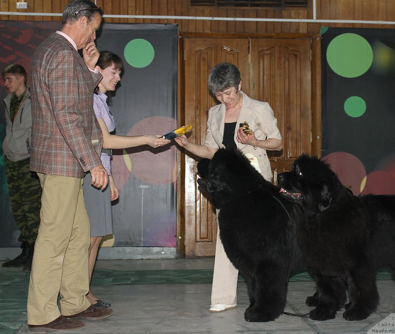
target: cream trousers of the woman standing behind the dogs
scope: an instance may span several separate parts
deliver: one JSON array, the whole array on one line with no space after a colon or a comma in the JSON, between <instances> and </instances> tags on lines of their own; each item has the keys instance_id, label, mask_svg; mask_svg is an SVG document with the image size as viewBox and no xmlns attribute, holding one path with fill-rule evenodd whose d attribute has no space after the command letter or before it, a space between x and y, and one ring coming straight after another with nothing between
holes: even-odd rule
<instances>
[{"instance_id":1,"label":"cream trousers of the woman standing behind the dogs","mask_svg":"<svg viewBox=\"0 0 395 334\"><path fill-rule=\"evenodd\" d=\"M211 287L211 305L236 305L238 270L226 255L219 237L218 213L219 210L217 210L217 244L215 247L214 274Z\"/></svg>"}]
</instances>

